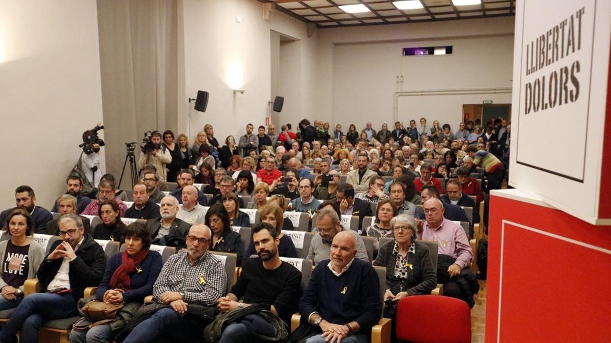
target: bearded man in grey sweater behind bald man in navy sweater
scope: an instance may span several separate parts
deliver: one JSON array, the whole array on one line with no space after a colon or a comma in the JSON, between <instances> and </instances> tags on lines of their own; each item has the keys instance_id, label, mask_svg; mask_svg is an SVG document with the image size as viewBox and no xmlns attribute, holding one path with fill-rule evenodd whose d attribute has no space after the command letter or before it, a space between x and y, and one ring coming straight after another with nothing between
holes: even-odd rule
<instances>
[{"instance_id":1,"label":"bearded man in grey sweater behind bald man in navy sweater","mask_svg":"<svg viewBox=\"0 0 611 343\"><path fill-rule=\"evenodd\" d=\"M337 212L338 209L336 210L333 208L330 202L329 206L321 207L321 209L318 210L318 213L316 214L316 229L318 230L318 233L312 237L307 259L311 259L314 264L318 264L318 262L323 261L324 259L329 259L329 250L331 249L333 238L337 233L346 231L352 234L356 240L356 258L369 261L363 238L360 237L356 231L349 228L342 228L342 225L340 224L340 217Z\"/></svg>"}]
</instances>

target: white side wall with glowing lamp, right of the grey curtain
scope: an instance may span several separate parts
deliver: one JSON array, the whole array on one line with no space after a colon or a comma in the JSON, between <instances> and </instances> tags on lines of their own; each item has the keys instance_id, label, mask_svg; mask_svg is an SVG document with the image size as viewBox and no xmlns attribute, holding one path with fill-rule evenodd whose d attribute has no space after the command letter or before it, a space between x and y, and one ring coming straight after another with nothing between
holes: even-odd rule
<instances>
[{"instance_id":1,"label":"white side wall with glowing lamp, right of the grey curtain","mask_svg":"<svg viewBox=\"0 0 611 343\"><path fill-rule=\"evenodd\" d=\"M301 115L313 116L316 35L307 37L307 26L280 12L272 12L263 20L263 4L255 0L183 0L179 5L184 18L185 92L184 99L194 97L197 90L210 92L205 113L193 110L179 113L179 131L190 132L193 138L206 123L222 144L229 134L236 139L244 134L247 122L256 126L265 123L271 110L271 31L295 37L301 44ZM236 23L236 16L241 23ZM179 29L180 32L180 29ZM305 79L304 79L305 78ZM312 80L307 80L310 78ZM232 88L244 88L244 94L233 95ZM285 107L299 99L285 98ZM291 102L293 104L291 104ZM179 95L180 103L180 95ZM181 118L182 117L182 118ZM290 114L283 110L279 121ZM184 130L183 130L184 129Z\"/></svg>"}]
</instances>

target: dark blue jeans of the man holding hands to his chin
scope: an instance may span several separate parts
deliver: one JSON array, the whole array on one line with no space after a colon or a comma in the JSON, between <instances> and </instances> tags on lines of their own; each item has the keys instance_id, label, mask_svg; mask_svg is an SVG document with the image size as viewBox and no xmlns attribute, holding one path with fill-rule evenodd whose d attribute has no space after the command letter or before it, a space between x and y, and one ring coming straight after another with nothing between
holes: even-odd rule
<instances>
[{"instance_id":1,"label":"dark blue jeans of the man holding hands to his chin","mask_svg":"<svg viewBox=\"0 0 611 343\"><path fill-rule=\"evenodd\" d=\"M77 316L76 303L71 294L34 293L23 298L10 315L9 322L0 330L0 341L13 341L21 331L20 342L38 342L38 329L49 319Z\"/></svg>"}]
</instances>

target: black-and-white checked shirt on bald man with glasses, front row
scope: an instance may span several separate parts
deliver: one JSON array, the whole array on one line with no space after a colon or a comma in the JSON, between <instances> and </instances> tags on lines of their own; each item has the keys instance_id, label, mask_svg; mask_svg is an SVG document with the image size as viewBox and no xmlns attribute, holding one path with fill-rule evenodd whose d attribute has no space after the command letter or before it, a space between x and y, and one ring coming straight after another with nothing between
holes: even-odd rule
<instances>
[{"instance_id":1,"label":"black-and-white checked shirt on bald man with glasses, front row","mask_svg":"<svg viewBox=\"0 0 611 343\"><path fill-rule=\"evenodd\" d=\"M163 265L153 285L153 298L159 300L164 292L182 292L186 303L214 306L226 289L225 267L218 258L207 251L191 265L187 251L181 251Z\"/></svg>"}]
</instances>

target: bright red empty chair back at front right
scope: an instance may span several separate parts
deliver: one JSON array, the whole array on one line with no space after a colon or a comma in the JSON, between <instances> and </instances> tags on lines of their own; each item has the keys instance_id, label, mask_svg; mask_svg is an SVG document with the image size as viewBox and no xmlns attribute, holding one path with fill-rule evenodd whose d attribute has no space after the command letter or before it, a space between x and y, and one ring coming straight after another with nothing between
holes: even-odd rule
<instances>
[{"instance_id":1,"label":"bright red empty chair back at front right","mask_svg":"<svg viewBox=\"0 0 611 343\"><path fill-rule=\"evenodd\" d=\"M443 320L439 320L439 314L443 314ZM471 342L469 305L456 298L405 297L397 305L396 323L395 333L400 341Z\"/></svg>"}]
</instances>

